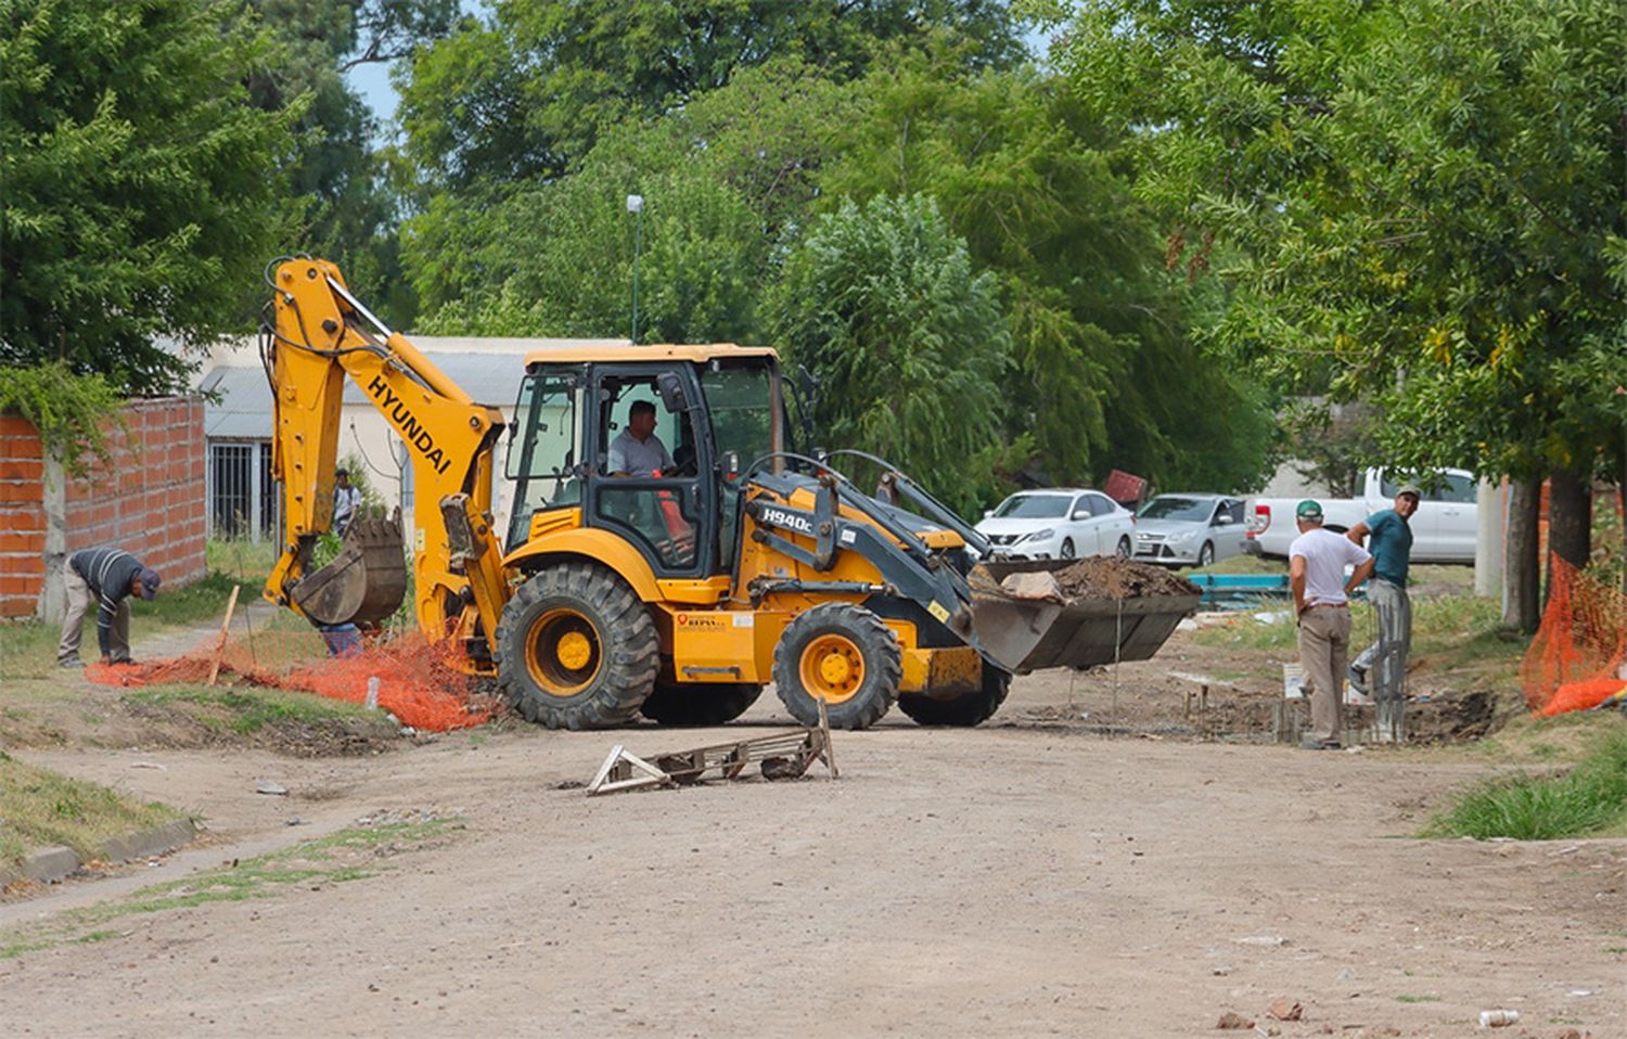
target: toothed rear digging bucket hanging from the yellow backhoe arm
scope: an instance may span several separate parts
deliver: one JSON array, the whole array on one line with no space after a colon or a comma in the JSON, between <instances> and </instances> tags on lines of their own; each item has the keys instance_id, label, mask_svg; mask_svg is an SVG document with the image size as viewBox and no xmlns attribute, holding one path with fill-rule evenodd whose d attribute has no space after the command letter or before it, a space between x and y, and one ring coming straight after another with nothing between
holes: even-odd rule
<instances>
[{"instance_id":1,"label":"toothed rear digging bucket hanging from the yellow backhoe arm","mask_svg":"<svg viewBox=\"0 0 1627 1039\"><path fill-rule=\"evenodd\" d=\"M389 519L358 515L338 556L306 574L290 598L317 624L376 624L407 597L405 559L400 509Z\"/></svg>"}]
</instances>

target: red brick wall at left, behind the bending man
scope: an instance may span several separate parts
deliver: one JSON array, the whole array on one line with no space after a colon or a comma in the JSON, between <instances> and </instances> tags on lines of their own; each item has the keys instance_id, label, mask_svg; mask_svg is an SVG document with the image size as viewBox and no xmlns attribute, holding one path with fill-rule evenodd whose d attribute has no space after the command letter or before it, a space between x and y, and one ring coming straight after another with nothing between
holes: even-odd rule
<instances>
[{"instance_id":1,"label":"red brick wall at left, behind the bending man","mask_svg":"<svg viewBox=\"0 0 1627 1039\"><path fill-rule=\"evenodd\" d=\"M207 572L203 402L135 400L124 421L129 437L109 429L109 465L60 481L46 478L33 429L0 420L0 616L49 615L47 576L55 579L63 556L96 545L135 554L166 589Z\"/></svg>"}]
</instances>

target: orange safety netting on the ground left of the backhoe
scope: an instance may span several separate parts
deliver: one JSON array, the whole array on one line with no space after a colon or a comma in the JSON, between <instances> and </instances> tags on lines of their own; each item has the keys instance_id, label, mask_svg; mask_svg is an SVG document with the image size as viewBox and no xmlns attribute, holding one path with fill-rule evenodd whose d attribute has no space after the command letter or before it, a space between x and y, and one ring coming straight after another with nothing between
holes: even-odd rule
<instances>
[{"instance_id":1,"label":"orange safety netting on the ground left of the backhoe","mask_svg":"<svg viewBox=\"0 0 1627 1039\"><path fill-rule=\"evenodd\" d=\"M218 639L163 660L130 665L93 663L91 681L109 686L205 683L215 665ZM431 644L418 633L400 636L325 636L270 628L244 634L234 629L220 652L221 685L298 689L355 704L368 701L377 678L377 706L403 725L430 732L467 728L491 719L498 702L475 689L459 668L452 641Z\"/></svg>"}]
</instances>

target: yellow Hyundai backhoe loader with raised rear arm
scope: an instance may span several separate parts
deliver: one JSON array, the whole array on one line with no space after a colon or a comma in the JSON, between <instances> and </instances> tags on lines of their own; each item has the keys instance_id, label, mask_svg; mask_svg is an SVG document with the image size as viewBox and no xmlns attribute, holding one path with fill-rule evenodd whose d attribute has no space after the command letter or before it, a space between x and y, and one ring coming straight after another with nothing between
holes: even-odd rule
<instances>
[{"instance_id":1,"label":"yellow Hyundai backhoe loader with raised rear arm","mask_svg":"<svg viewBox=\"0 0 1627 1039\"><path fill-rule=\"evenodd\" d=\"M883 488L861 491L840 470L856 452L787 450L773 350L535 351L504 426L332 263L286 259L267 280L285 538L265 597L325 628L377 623L405 595L399 517L353 522L338 558L311 567L350 379L412 457L420 626L534 722L721 724L773 681L804 724L825 701L848 728L895 702L923 724L976 725L1012 673L1150 657L1196 605L975 595L966 574L989 546L931 494L885 463ZM496 530L504 429L513 511Z\"/></svg>"}]
</instances>

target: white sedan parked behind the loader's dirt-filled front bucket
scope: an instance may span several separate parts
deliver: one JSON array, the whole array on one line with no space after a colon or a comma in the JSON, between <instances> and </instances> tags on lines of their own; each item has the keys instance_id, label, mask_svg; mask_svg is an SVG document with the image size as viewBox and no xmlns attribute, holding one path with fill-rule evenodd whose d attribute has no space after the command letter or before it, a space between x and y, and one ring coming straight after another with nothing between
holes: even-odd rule
<instances>
[{"instance_id":1,"label":"white sedan parked behind the loader's dirt-filled front bucket","mask_svg":"<svg viewBox=\"0 0 1627 1039\"><path fill-rule=\"evenodd\" d=\"M1012 494L978 524L1001 559L1129 556L1134 528L1134 512L1082 488Z\"/></svg>"}]
</instances>

